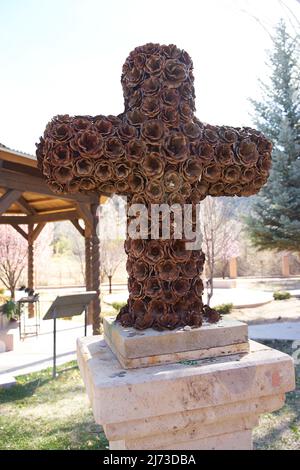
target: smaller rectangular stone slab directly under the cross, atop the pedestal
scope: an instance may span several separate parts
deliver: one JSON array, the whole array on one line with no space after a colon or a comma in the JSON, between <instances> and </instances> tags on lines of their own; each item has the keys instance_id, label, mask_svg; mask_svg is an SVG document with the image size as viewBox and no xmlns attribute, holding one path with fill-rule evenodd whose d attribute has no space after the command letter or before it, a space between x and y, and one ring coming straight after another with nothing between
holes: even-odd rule
<instances>
[{"instance_id":1,"label":"smaller rectangular stone slab directly under the cross, atop the pedestal","mask_svg":"<svg viewBox=\"0 0 300 470\"><path fill-rule=\"evenodd\" d=\"M104 339L125 369L242 354L249 351L248 325L221 320L201 328L138 331L114 317L103 320Z\"/></svg>"}]
</instances>

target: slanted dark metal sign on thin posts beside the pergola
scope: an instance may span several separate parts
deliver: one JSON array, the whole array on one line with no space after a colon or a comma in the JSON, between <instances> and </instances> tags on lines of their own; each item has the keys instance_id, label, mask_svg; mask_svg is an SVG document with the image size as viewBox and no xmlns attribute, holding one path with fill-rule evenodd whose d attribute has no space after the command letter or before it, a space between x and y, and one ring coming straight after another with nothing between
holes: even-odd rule
<instances>
[{"instance_id":1,"label":"slanted dark metal sign on thin posts beside the pergola","mask_svg":"<svg viewBox=\"0 0 300 470\"><path fill-rule=\"evenodd\" d=\"M60 295L56 297L43 320L53 320L53 378L56 378L56 345L57 324L59 318L75 317L84 312L84 336L87 334L88 305L97 296L97 292L89 291L80 294Z\"/></svg>"}]
</instances>

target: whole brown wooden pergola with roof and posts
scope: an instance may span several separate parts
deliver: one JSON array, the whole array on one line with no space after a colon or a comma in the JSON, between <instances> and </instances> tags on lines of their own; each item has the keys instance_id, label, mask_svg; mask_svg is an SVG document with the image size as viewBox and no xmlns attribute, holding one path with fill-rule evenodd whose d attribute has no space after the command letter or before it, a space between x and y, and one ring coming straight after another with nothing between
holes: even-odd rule
<instances>
[{"instance_id":1,"label":"whole brown wooden pergola with roof and posts","mask_svg":"<svg viewBox=\"0 0 300 470\"><path fill-rule=\"evenodd\" d=\"M46 185L34 156L0 144L0 224L11 225L27 240L28 287L35 287L35 240L48 222L69 220L85 239L86 289L98 292L88 316L94 334L100 327L99 202L96 193L57 196ZM84 221L84 228L80 220ZM23 225L27 225L27 231Z\"/></svg>"}]
</instances>

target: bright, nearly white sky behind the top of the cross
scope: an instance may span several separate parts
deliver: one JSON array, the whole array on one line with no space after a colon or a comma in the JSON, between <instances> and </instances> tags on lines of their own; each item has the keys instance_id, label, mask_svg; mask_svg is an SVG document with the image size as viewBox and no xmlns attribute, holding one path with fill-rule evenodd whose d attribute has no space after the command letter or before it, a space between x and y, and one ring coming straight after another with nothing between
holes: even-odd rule
<instances>
[{"instance_id":1,"label":"bright, nearly white sky behind the top of the cross","mask_svg":"<svg viewBox=\"0 0 300 470\"><path fill-rule=\"evenodd\" d=\"M296 0L286 7L300 16ZM0 0L0 142L34 152L55 114L119 114L120 74L146 42L175 43L194 61L197 116L250 125L248 97L280 17L279 0Z\"/></svg>"}]
</instances>

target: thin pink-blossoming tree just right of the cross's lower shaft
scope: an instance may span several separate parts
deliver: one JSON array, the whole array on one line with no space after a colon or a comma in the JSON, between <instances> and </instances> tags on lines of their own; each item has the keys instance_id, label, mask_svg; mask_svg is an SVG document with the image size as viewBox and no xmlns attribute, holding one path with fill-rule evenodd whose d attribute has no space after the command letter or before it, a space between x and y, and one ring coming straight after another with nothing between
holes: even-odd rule
<instances>
[{"instance_id":1,"label":"thin pink-blossoming tree just right of the cross's lower shaft","mask_svg":"<svg viewBox=\"0 0 300 470\"><path fill-rule=\"evenodd\" d=\"M232 216L229 204L223 200L207 197L200 204L200 221L203 251L206 256L207 304L213 296L215 267L238 255L238 238L241 226Z\"/></svg>"}]
</instances>

